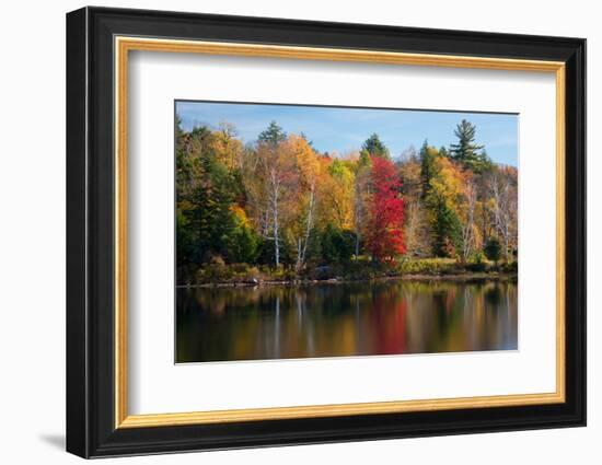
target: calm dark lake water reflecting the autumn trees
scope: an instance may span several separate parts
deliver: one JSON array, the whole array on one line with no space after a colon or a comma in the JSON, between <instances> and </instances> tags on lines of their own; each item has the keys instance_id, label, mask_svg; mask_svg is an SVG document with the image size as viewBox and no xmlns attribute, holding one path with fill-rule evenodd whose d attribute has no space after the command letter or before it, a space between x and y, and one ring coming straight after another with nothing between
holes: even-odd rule
<instances>
[{"instance_id":1,"label":"calm dark lake water reflecting the autumn trees","mask_svg":"<svg viewBox=\"0 0 602 465\"><path fill-rule=\"evenodd\" d=\"M176 362L518 348L518 287L444 280L176 289Z\"/></svg>"}]
</instances>

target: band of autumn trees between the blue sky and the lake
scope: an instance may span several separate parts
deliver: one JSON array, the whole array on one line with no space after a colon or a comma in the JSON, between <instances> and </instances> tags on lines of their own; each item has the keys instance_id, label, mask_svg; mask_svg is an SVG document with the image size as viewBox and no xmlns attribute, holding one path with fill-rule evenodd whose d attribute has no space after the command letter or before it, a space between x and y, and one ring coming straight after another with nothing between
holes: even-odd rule
<instances>
[{"instance_id":1,"label":"band of autumn trees between the blue sky and the lake","mask_svg":"<svg viewBox=\"0 0 602 465\"><path fill-rule=\"evenodd\" d=\"M517 260L518 171L489 159L470 121L455 136L394 161L377 133L341 155L276 121L245 144L229 123L186 131L177 119L178 282L216 263Z\"/></svg>"}]
</instances>

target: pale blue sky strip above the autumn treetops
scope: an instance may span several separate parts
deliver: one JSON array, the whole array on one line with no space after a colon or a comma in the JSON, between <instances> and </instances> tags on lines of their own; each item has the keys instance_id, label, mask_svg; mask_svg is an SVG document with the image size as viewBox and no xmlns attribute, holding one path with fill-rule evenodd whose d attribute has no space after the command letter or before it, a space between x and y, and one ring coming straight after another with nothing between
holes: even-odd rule
<instances>
[{"instance_id":1,"label":"pale blue sky strip above the autumn treetops","mask_svg":"<svg viewBox=\"0 0 602 465\"><path fill-rule=\"evenodd\" d=\"M409 146L419 149L425 139L437 148L449 147L456 141L455 125L467 119L476 125L476 142L495 162L518 165L517 115L188 101L176 102L176 113L185 130L229 121L244 142L256 140L276 120L287 132L305 133L321 152L341 154L359 150L377 132L394 159Z\"/></svg>"}]
</instances>

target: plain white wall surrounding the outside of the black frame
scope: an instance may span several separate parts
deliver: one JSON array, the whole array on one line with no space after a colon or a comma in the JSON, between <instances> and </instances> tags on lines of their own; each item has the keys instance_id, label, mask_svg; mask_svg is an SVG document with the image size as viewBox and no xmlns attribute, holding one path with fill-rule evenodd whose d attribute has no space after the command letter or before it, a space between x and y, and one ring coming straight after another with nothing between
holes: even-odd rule
<instances>
[{"instance_id":1,"label":"plain white wall surrounding the outside of the black frame","mask_svg":"<svg viewBox=\"0 0 602 465\"><path fill-rule=\"evenodd\" d=\"M351 444L149 456L120 463L599 463L602 434L600 107L602 30L595 2L104 1L105 5L587 37L589 43L589 427ZM0 19L0 429L4 463L76 463L65 417L65 13L78 1L5 2Z\"/></svg>"}]
</instances>

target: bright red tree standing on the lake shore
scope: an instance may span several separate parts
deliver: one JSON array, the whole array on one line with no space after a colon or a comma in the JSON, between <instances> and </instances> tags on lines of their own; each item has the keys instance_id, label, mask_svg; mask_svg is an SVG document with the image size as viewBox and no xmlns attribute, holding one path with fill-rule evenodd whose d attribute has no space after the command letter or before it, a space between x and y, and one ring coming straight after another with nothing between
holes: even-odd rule
<instances>
[{"instance_id":1,"label":"bright red tree standing on the lake shore","mask_svg":"<svg viewBox=\"0 0 602 465\"><path fill-rule=\"evenodd\" d=\"M373 258L392 261L406 249L402 181L393 162L379 156L372 158L371 181L373 195L366 246Z\"/></svg>"}]
</instances>

